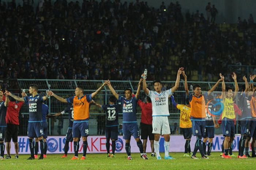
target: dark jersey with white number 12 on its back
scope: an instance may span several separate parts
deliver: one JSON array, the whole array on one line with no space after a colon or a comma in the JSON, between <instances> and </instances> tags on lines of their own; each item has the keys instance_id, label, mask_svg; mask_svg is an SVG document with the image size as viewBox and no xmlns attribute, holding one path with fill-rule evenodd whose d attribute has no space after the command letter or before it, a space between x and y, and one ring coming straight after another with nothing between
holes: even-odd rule
<instances>
[{"instance_id":1,"label":"dark jersey with white number 12 on its back","mask_svg":"<svg viewBox=\"0 0 256 170\"><path fill-rule=\"evenodd\" d=\"M118 113L121 105L103 105L102 109L106 112L106 127L118 126Z\"/></svg>"}]
</instances>

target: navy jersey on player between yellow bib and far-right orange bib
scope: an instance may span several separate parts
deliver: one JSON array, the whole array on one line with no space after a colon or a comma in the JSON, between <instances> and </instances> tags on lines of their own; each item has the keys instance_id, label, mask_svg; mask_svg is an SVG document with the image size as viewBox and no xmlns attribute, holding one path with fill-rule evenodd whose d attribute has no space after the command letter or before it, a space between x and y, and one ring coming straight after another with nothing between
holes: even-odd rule
<instances>
[{"instance_id":1,"label":"navy jersey on player between yellow bib and far-right orange bib","mask_svg":"<svg viewBox=\"0 0 256 170\"><path fill-rule=\"evenodd\" d=\"M244 92L239 97L238 106L242 110L242 115L240 117L240 120L244 120L246 118L252 117L250 100L251 99L249 99L248 96Z\"/></svg>"}]
</instances>

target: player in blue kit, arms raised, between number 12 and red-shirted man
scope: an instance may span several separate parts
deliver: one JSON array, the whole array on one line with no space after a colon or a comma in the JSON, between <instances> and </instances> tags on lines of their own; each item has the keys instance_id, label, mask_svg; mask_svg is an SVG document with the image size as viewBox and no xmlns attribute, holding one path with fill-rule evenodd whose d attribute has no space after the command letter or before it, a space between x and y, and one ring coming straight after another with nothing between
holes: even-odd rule
<instances>
[{"instance_id":1,"label":"player in blue kit, arms raised, between number 12 and red-shirted man","mask_svg":"<svg viewBox=\"0 0 256 170\"><path fill-rule=\"evenodd\" d=\"M143 159L148 159L147 155L143 153L143 145L142 141L140 140L140 132L138 128L137 123L137 102L138 97L140 94L140 85L142 83L143 79L140 79L138 90L136 92L135 97L132 97L132 90L131 88L126 88L124 90L125 97L122 97L121 95L117 94L114 88L111 86L111 83L108 84L109 89L111 90L114 97L118 99L118 101L121 102L121 107L123 108L123 138L125 139L125 150L128 155L128 160L132 160L131 156L131 146L130 146L130 140L131 136L134 137L134 139L137 142L137 146L140 149L140 157Z\"/></svg>"}]
</instances>

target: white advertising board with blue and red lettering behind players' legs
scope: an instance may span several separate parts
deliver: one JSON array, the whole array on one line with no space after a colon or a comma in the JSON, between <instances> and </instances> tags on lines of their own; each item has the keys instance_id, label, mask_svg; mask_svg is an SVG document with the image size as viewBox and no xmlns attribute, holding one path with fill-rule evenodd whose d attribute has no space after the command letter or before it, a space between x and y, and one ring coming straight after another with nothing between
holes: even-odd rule
<instances>
[{"instance_id":1,"label":"white advertising board with blue and red lettering behind players' legs","mask_svg":"<svg viewBox=\"0 0 256 170\"><path fill-rule=\"evenodd\" d=\"M237 135L233 142L233 151L238 151L238 143L241 135ZM222 141L224 137L222 135L215 135L213 139L212 152L220 152L222 147ZM106 153L106 137L105 136L89 136L87 138L88 149L87 153ZM196 142L196 137L191 139L191 150L193 150ZM19 154L30 154L29 138L27 136L19 136ZM111 143L111 141L110 141ZM164 138L160 139L160 152L164 152ZM65 136L48 136L47 139L47 153L48 154L63 154L65 145ZM79 143L79 153L83 152L83 142ZM172 135L170 138L170 152L184 152L185 140L182 135ZM111 152L110 146L110 152ZM69 143L69 153L74 153L73 143ZM116 141L116 153L125 153L125 140L123 136L118 136ZM136 141L132 137L131 139L131 152L139 152ZM151 152L150 141L147 143L147 152ZM6 150L5 150L6 153ZM39 147L40 153L40 147ZM15 154L14 144L11 142L11 154Z\"/></svg>"}]
</instances>

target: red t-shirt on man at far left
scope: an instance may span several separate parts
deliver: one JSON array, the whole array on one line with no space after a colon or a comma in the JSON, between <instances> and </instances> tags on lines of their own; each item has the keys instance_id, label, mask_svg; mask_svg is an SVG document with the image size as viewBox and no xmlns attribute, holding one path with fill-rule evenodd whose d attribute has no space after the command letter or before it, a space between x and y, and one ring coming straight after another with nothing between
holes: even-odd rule
<instances>
[{"instance_id":1,"label":"red t-shirt on man at far left","mask_svg":"<svg viewBox=\"0 0 256 170\"><path fill-rule=\"evenodd\" d=\"M9 102L5 121L6 124L19 125L19 111L24 102Z\"/></svg>"}]
</instances>

